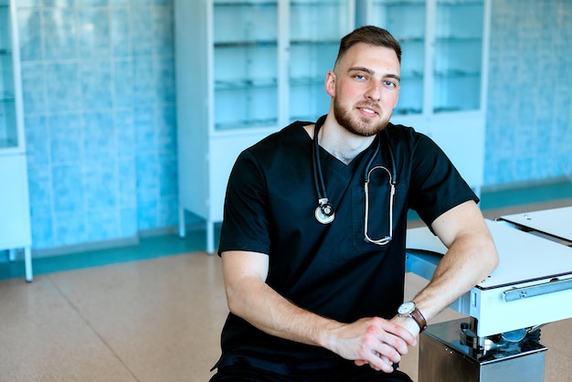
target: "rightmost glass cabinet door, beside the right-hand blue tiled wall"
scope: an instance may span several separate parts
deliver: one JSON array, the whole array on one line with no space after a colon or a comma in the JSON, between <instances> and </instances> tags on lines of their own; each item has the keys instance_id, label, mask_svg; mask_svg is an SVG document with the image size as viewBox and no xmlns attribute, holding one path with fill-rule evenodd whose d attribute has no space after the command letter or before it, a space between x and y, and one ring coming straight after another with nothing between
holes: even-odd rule
<instances>
[{"instance_id":1,"label":"rightmost glass cabinet door, beside the right-hand blue tiled wall","mask_svg":"<svg viewBox=\"0 0 572 382\"><path fill-rule=\"evenodd\" d=\"M481 108L482 0L438 0L433 111Z\"/></svg>"}]
</instances>

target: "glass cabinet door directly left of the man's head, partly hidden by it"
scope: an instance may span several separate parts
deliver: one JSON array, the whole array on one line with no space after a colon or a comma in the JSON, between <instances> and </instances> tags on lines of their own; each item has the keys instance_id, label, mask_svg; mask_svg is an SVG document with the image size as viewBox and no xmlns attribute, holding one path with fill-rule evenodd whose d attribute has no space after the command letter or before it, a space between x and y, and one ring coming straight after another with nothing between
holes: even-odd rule
<instances>
[{"instance_id":1,"label":"glass cabinet door directly left of the man's head, partly hidden by it","mask_svg":"<svg viewBox=\"0 0 572 382\"><path fill-rule=\"evenodd\" d=\"M324 83L344 37L353 26L347 0L291 0L290 121L315 122L330 108ZM350 22L352 25L350 25Z\"/></svg>"}]
</instances>

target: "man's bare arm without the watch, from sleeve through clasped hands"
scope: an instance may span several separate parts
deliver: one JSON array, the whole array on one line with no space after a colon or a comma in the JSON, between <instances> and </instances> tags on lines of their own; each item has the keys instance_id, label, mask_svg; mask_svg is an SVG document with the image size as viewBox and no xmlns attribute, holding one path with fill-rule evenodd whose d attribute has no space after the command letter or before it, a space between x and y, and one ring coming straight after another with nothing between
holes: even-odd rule
<instances>
[{"instance_id":1,"label":"man's bare arm without the watch, from sleeve through clasped hands","mask_svg":"<svg viewBox=\"0 0 572 382\"><path fill-rule=\"evenodd\" d=\"M266 283L268 256L223 252L228 309L261 331L307 345L322 346L357 365L393 371L393 364L415 345L415 336L380 317L339 323L296 306Z\"/></svg>"}]
</instances>

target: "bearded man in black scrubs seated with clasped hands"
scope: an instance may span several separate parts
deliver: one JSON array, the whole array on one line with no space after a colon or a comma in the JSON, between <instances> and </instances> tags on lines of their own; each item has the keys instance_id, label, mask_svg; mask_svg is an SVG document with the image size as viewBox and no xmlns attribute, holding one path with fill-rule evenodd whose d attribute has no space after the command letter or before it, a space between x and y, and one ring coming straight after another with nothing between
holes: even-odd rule
<instances>
[{"instance_id":1,"label":"bearded man in black scrubs seated with clasped hands","mask_svg":"<svg viewBox=\"0 0 572 382\"><path fill-rule=\"evenodd\" d=\"M230 313L212 381L410 381L397 364L426 321L496 267L471 188L428 137L388 123L400 57L386 30L356 29L327 73L328 114L238 157L219 246ZM408 208L449 250L397 314Z\"/></svg>"}]
</instances>

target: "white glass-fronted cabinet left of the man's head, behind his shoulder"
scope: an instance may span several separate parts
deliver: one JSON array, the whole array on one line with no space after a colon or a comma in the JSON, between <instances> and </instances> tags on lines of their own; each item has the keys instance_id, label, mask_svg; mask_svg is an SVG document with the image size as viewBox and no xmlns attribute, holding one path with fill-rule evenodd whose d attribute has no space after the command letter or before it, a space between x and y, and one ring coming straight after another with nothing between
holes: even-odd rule
<instances>
[{"instance_id":1,"label":"white glass-fronted cabinet left of the man's head, behind his shoulder","mask_svg":"<svg viewBox=\"0 0 572 382\"><path fill-rule=\"evenodd\" d=\"M214 250L238 154L327 112L325 74L354 27L354 0L175 0L181 237L189 211Z\"/></svg>"}]
</instances>

